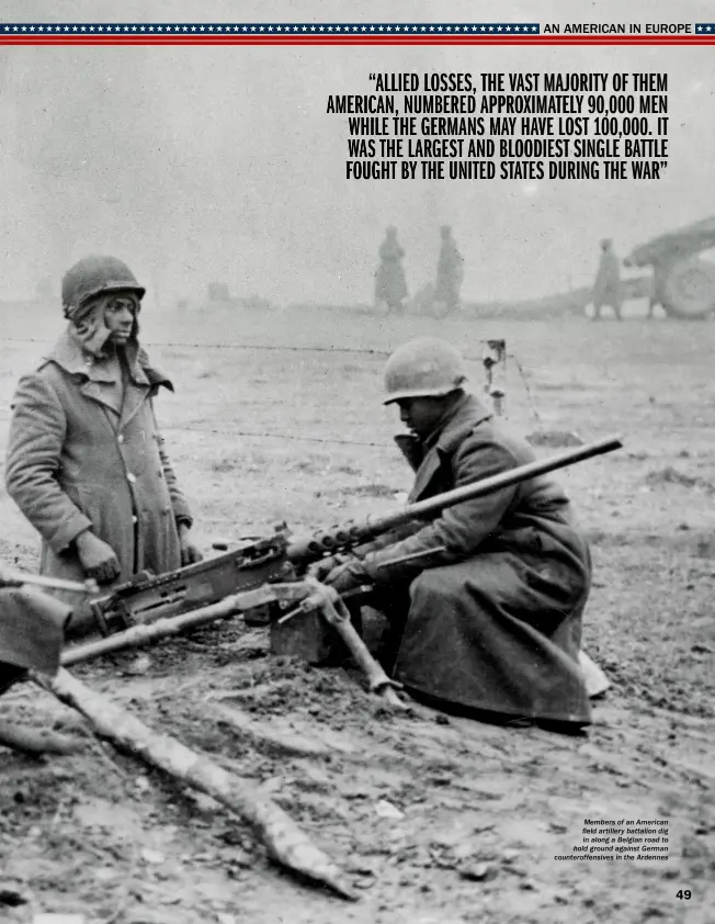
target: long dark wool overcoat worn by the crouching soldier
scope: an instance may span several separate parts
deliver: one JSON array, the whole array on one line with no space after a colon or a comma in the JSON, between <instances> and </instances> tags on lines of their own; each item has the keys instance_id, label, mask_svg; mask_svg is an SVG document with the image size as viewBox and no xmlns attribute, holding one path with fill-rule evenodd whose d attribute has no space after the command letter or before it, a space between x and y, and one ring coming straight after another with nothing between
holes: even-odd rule
<instances>
[{"instance_id":1,"label":"long dark wool overcoat worn by the crouching soldier","mask_svg":"<svg viewBox=\"0 0 715 924\"><path fill-rule=\"evenodd\" d=\"M397 440L417 471L408 503L535 458L472 395L425 444ZM438 546L429 560L389 564ZM578 653L591 559L551 477L445 509L376 543L364 565L376 582L371 604L398 619L404 606L395 675L408 688L470 709L590 721Z\"/></svg>"}]
</instances>

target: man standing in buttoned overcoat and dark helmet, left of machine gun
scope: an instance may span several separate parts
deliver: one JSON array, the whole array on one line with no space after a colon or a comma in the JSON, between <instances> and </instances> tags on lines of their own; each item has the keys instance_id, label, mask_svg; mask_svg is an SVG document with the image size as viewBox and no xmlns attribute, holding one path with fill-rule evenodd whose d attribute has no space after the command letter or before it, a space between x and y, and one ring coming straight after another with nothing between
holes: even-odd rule
<instances>
[{"instance_id":1,"label":"man standing in buttoned overcoat and dark helmet, left of machine gun","mask_svg":"<svg viewBox=\"0 0 715 924\"><path fill-rule=\"evenodd\" d=\"M138 341L144 294L121 260L80 260L63 279L67 328L18 385L5 485L42 536L43 575L111 584L201 559L155 417L173 386Z\"/></svg>"}]
</instances>

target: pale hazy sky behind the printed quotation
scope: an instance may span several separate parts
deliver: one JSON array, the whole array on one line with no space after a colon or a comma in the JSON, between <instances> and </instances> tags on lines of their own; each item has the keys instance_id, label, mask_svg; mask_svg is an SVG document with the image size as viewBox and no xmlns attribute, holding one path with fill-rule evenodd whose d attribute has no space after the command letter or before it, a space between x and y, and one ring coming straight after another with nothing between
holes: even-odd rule
<instances>
[{"instance_id":1,"label":"pale hazy sky behind the printed quotation","mask_svg":"<svg viewBox=\"0 0 715 924\"><path fill-rule=\"evenodd\" d=\"M27 21L3 0L2 20ZM534 20L531 2L162 2L122 21ZM384 10L389 9L389 15ZM628 12L625 13L624 10ZM538 21L685 22L711 3L543 2ZM116 2L35 0L33 21L112 21ZM466 258L464 294L521 298L588 283L598 240L624 255L715 213L715 48L115 47L0 49L0 297L30 295L88 251L114 252L151 294L224 280L280 302L372 298L376 249L395 224L410 291L429 281L439 225ZM659 182L344 179L347 121L329 93L371 71L661 70L670 164Z\"/></svg>"}]
</instances>

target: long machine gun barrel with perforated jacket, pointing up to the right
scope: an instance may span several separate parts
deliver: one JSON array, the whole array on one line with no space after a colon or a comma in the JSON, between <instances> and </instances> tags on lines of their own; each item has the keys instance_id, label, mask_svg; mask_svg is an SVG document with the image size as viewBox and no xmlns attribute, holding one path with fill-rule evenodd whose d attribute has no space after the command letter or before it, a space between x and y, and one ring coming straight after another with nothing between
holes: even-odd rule
<instances>
[{"instance_id":1,"label":"long machine gun barrel with perforated jacket, pointing up to the right","mask_svg":"<svg viewBox=\"0 0 715 924\"><path fill-rule=\"evenodd\" d=\"M481 478L473 484L455 487L434 497L428 497L425 500L407 504L387 514L368 516L361 522L348 523L334 529L324 530L305 539L293 540L288 544L287 556L295 565L305 567L326 554L370 542L378 536L412 520L429 519L447 507L454 507L465 500L486 497L488 494L496 494L503 488L512 487L538 475L545 475L567 465L593 459L595 455L613 452L621 449L622 446L623 442L620 437L606 437L595 442L586 443L578 449L570 449L567 452L553 455L551 459L540 459L509 472L502 472L499 475Z\"/></svg>"}]
</instances>

